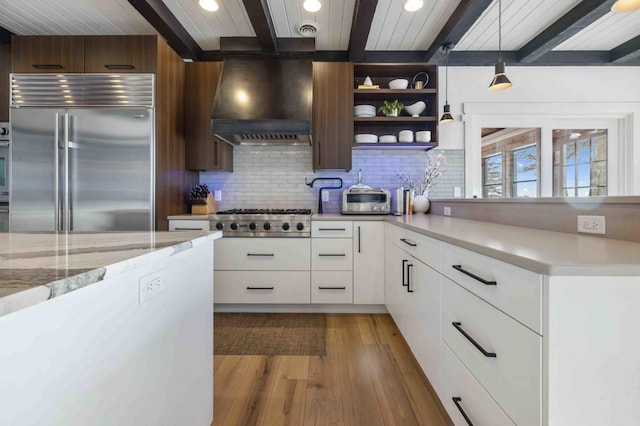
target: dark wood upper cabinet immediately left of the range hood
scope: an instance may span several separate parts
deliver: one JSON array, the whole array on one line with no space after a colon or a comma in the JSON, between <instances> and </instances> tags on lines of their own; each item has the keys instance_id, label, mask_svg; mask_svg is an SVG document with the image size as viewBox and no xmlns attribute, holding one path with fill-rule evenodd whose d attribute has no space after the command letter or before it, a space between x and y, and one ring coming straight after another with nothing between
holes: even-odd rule
<instances>
[{"instance_id":1,"label":"dark wood upper cabinet immediately left of the range hood","mask_svg":"<svg viewBox=\"0 0 640 426\"><path fill-rule=\"evenodd\" d=\"M186 65L186 167L233 171L233 147L211 134L211 108L222 62Z\"/></svg>"}]
</instances>

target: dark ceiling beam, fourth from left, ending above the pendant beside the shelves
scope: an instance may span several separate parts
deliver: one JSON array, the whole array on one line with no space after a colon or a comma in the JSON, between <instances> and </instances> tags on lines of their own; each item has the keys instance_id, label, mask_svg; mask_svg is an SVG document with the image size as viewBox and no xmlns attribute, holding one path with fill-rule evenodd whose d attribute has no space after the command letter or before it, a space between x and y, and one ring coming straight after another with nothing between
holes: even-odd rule
<instances>
[{"instance_id":1,"label":"dark ceiling beam, fourth from left, ending above the pendant beside the shelves","mask_svg":"<svg viewBox=\"0 0 640 426\"><path fill-rule=\"evenodd\" d=\"M424 61L441 64L447 54L440 49L445 43L456 45L491 4L492 0L462 0L440 30L424 55Z\"/></svg>"}]
</instances>

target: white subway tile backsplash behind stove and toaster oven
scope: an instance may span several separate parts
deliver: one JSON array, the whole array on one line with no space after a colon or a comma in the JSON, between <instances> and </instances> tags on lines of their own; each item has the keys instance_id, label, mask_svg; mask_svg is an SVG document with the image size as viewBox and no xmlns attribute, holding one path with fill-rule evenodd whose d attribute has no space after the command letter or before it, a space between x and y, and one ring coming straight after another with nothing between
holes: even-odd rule
<instances>
[{"instance_id":1,"label":"white subway tile backsplash behind stove and toaster oven","mask_svg":"<svg viewBox=\"0 0 640 426\"><path fill-rule=\"evenodd\" d=\"M362 169L362 181L376 188L393 189L405 186L396 176L403 170L418 176L424 171L426 156L418 150L356 150L353 151L350 172L340 170L312 170L311 147L246 147L233 148L233 173L201 172L200 183L210 190L221 189L221 209L232 208L318 208L318 189L321 185L333 186L333 182L318 182L313 189L305 184L315 177L339 177L343 189L358 180ZM443 152L447 162L437 184L429 192L431 198L451 198L453 188L464 193L464 150L429 151L427 155ZM339 213L342 190L330 190L329 201L323 204L325 212Z\"/></svg>"}]
</instances>

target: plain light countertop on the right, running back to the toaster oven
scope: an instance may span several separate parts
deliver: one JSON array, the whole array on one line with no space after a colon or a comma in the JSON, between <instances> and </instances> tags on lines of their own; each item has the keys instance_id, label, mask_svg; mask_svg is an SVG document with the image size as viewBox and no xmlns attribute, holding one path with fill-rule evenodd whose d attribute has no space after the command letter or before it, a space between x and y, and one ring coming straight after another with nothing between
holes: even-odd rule
<instances>
[{"instance_id":1,"label":"plain light countertop on the right, running back to the toaster oven","mask_svg":"<svg viewBox=\"0 0 640 426\"><path fill-rule=\"evenodd\" d=\"M313 215L312 220L384 220L546 275L640 275L640 243L439 215Z\"/></svg>"}]
</instances>

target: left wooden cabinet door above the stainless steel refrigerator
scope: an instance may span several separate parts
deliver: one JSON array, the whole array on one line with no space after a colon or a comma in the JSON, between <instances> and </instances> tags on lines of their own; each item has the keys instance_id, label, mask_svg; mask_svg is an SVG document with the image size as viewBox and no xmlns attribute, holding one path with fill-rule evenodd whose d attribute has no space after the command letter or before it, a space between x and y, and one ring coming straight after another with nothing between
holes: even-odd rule
<instances>
[{"instance_id":1,"label":"left wooden cabinet door above the stainless steel refrigerator","mask_svg":"<svg viewBox=\"0 0 640 426\"><path fill-rule=\"evenodd\" d=\"M84 72L83 36L13 36L13 72Z\"/></svg>"}]
</instances>

